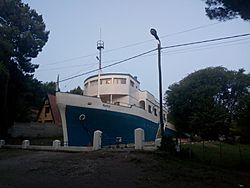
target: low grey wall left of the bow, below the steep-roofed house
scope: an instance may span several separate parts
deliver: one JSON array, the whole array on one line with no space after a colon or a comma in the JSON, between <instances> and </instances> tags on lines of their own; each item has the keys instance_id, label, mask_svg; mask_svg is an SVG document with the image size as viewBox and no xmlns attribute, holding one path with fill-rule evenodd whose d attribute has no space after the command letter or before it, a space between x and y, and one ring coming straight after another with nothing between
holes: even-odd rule
<instances>
[{"instance_id":1,"label":"low grey wall left of the bow, below the steep-roofed house","mask_svg":"<svg viewBox=\"0 0 250 188\"><path fill-rule=\"evenodd\" d=\"M29 137L29 138L48 138L62 137L63 131L61 126L54 124L42 123L14 123L14 126L9 129L9 134L13 138Z\"/></svg>"}]
</instances>

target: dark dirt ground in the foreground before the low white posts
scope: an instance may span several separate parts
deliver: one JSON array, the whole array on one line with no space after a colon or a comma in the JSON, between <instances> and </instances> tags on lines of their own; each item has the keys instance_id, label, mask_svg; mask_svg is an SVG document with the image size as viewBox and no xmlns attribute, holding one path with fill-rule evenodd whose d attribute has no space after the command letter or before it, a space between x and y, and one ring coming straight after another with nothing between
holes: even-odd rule
<instances>
[{"instance_id":1,"label":"dark dirt ground in the foreground before the low white posts","mask_svg":"<svg viewBox=\"0 0 250 188\"><path fill-rule=\"evenodd\" d=\"M250 171L220 169L156 152L0 149L0 188L250 187Z\"/></svg>"}]
</instances>

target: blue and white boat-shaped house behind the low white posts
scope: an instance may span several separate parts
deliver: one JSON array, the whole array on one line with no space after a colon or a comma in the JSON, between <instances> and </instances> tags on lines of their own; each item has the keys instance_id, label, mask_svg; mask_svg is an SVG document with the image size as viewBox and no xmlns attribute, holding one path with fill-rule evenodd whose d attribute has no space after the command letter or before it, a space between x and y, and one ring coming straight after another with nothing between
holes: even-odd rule
<instances>
[{"instance_id":1,"label":"blue and white boat-shaped house behind the low white posts","mask_svg":"<svg viewBox=\"0 0 250 188\"><path fill-rule=\"evenodd\" d=\"M64 144L92 145L94 131L102 131L102 144L134 142L134 130L142 128L145 141L159 136L159 103L148 91L140 90L137 77L124 73L106 73L88 77L84 94L57 92ZM167 109L163 109L165 134L175 129L167 127Z\"/></svg>"}]
</instances>

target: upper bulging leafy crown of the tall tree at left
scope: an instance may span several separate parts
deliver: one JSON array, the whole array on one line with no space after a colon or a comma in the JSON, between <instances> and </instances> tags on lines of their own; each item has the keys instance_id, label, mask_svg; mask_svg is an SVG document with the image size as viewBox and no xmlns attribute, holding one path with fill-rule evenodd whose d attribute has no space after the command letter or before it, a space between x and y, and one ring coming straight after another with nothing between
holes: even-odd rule
<instances>
[{"instance_id":1,"label":"upper bulging leafy crown of the tall tree at left","mask_svg":"<svg viewBox=\"0 0 250 188\"><path fill-rule=\"evenodd\" d=\"M38 65L30 60L42 51L49 34L42 16L21 0L1 0L0 25L0 45L5 49L1 58L17 64L24 73L34 72Z\"/></svg>"}]
</instances>

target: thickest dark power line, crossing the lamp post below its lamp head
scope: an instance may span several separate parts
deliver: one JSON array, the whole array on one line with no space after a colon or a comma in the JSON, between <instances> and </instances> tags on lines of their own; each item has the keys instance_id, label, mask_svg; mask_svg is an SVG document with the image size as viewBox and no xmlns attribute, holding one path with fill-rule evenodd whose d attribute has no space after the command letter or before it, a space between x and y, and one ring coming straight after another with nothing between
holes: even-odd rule
<instances>
[{"instance_id":1,"label":"thickest dark power line, crossing the lamp post below its lamp head","mask_svg":"<svg viewBox=\"0 0 250 188\"><path fill-rule=\"evenodd\" d=\"M197 45L197 44L202 44L202 43L216 42L216 41L221 41L221 40L229 40L229 39L233 39L233 38L246 37L246 36L250 36L250 33L241 34L241 35L234 35L234 36L228 36L228 37L221 37L221 38L216 38L216 39L208 39L208 40L202 40L202 41L196 41L196 42L189 42L189 43L177 44L177 45L172 45L172 46L165 46L165 47L162 47L162 49L169 49L169 48L177 48L177 47L183 47L183 46ZM106 65L102 69L106 69L108 67L112 67L114 65L124 63L126 61L138 58L140 56L144 56L144 55L149 54L151 52L154 52L156 50L157 50L157 48L149 50L149 51L141 53L141 54L138 54L138 55L135 55L135 56L132 56L132 57L129 57L127 59L124 59L124 60L109 64L109 65ZM77 78L77 77L80 77L80 76L83 76L83 75L86 75L86 74L89 74L89 73L92 73L92 72L96 72L98 70L99 69L90 70L90 71L82 73L82 74L78 74L78 75L75 75L75 76L72 76L72 77L69 77L69 78L65 78L63 80L60 80L59 82L64 82L64 81L67 81L67 80L71 80L71 79L74 79L74 78Z\"/></svg>"}]
</instances>

